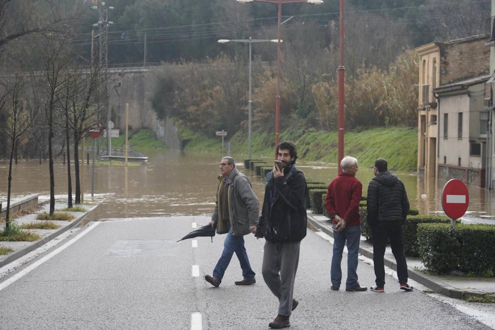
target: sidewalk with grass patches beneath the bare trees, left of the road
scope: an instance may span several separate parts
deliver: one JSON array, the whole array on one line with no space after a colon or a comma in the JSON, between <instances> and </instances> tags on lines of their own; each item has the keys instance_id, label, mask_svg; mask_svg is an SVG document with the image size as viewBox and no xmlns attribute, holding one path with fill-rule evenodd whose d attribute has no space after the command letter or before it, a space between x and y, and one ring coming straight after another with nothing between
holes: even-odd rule
<instances>
[{"instance_id":1,"label":"sidewalk with grass patches beneath the bare trees, left of the road","mask_svg":"<svg viewBox=\"0 0 495 330\"><path fill-rule=\"evenodd\" d=\"M76 206L76 205L74 205ZM67 212L71 213L74 215L74 219L71 221L52 221L60 228L58 229L26 229L26 231L31 231L34 232L38 235L41 236L41 239L36 240L34 242L26 242L26 241L18 241L18 242L12 242L12 241L0 241L0 245L3 245L5 247L9 247L14 250L14 252L10 252L7 255L0 255L0 268L7 265L8 263L11 263L12 261L19 259L20 257L28 254L31 251L34 251L38 247L42 246L43 244L47 243L53 238L56 238L60 234L70 230L71 228L76 227L81 223L81 221L90 216L91 212L95 210L98 205L77 205L79 207L84 208L86 211L85 212ZM63 209L67 207L66 203L55 203L55 210L57 209ZM49 212L50 205L49 203L41 203L39 204L39 208L32 210L32 213L22 215L18 218L14 219L15 224L17 225L22 225L26 223L31 223L35 221L43 221L43 220L36 220L36 216L39 213L42 212ZM65 212L65 211L64 211ZM5 223L0 224L1 226L5 226Z\"/></svg>"}]
</instances>

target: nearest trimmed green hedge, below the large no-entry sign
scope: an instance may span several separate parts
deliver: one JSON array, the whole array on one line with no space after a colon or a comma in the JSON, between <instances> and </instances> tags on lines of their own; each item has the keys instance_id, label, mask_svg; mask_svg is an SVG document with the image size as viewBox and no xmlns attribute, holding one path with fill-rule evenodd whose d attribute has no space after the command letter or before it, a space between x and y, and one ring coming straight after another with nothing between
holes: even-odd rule
<instances>
[{"instance_id":1,"label":"nearest trimmed green hedge, below the large no-entry sign","mask_svg":"<svg viewBox=\"0 0 495 330\"><path fill-rule=\"evenodd\" d=\"M454 269L494 275L495 226L458 224L418 225L419 254L428 270L448 274Z\"/></svg>"}]
</instances>

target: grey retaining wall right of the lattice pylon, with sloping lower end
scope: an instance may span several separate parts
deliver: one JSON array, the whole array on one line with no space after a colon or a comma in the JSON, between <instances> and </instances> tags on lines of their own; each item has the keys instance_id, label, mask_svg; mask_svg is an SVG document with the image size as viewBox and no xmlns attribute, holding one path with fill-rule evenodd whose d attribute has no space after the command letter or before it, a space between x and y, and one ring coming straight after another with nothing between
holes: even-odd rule
<instances>
[{"instance_id":1,"label":"grey retaining wall right of the lattice pylon, with sloping lower end","mask_svg":"<svg viewBox=\"0 0 495 330\"><path fill-rule=\"evenodd\" d=\"M114 129L119 129L121 134L125 132L125 108L126 103L129 103L130 129L151 129L169 148L180 149L181 141L173 121L169 118L159 120L151 106L156 69L151 67L147 70L125 72L123 75L115 74L116 81L110 83L108 90Z\"/></svg>"}]
</instances>

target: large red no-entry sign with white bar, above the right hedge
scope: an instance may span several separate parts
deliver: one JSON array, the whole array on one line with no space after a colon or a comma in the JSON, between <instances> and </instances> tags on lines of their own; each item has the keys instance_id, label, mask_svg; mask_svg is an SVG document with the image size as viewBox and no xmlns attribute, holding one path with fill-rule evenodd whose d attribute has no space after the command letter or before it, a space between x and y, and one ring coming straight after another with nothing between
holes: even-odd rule
<instances>
[{"instance_id":1,"label":"large red no-entry sign with white bar, above the right hedge","mask_svg":"<svg viewBox=\"0 0 495 330\"><path fill-rule=\"evenodd\" d=\"M469 192L466 185L458 179L449 180L442 192L442 208L452 219L459 219L469 206Z\"/></svg>"}]
</instances>

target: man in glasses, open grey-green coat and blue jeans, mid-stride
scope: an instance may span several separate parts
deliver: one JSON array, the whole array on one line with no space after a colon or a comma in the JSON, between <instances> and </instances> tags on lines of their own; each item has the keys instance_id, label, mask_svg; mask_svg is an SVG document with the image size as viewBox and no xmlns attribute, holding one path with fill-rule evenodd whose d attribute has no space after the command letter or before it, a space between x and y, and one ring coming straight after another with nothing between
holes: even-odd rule
<instances>
[{"instance_id":1,"label":"man in glasses, open grey-green coat and blue jeans, mid-stride","mask_svg":"<svg viewBox=\"0 0 495 330\"><path fill-rule=\"evenodd\" d=\"M211 217L211 227L216 226L217 234L227 234L223 244L223 252L218 260L213 276L206 275L204 279L213 286L222 283L225 270L229 266L234 252L241 263L243 280L236 285L256 283L255 273L251 269L244 247L244 236L256 231L258 223L258 198L252 191L249 179L236 169L232 157L223 157L220 163L215 211Z\"/></svg>"}]
</instances>

